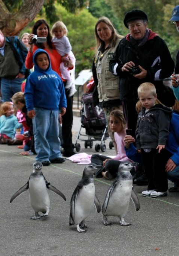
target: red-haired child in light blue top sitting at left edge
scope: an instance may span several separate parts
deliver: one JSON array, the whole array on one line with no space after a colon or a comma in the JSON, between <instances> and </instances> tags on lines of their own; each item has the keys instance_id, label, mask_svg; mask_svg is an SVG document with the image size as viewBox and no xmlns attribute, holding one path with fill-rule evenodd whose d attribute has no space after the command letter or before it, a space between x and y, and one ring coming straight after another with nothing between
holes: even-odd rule
<instances>
[{"instance_id":1,"label":"red-haired child in light blue top sitting at left edge","mask_svg":"<svg viewBox=\"0 0 179 256\"><path fill-rule=\"evenodd\" d=\"M14 115L15 110L13 104L4 102L0 107L0 143L8 145L20 145L15 139L16 129L22 128L22 124L18 123L17 117Z\"/></svg>"}]
</instances>

